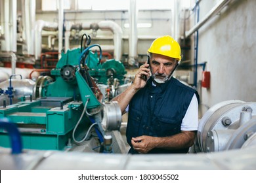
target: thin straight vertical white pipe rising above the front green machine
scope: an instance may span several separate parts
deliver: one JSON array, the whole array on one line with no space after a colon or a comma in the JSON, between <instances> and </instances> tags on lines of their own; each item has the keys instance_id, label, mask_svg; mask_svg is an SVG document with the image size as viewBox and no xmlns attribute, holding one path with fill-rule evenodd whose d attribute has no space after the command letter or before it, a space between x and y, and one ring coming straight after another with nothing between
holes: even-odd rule
<instances>
[{"instance_id":1,"label":"thin straight vertical white pipe rising above the front green machine","mask_svg":"<svg viewBox=\"0 0 256 183\"><path fill-rule=\"evenodd\" d=\"M64 5L63 0L58 1L58 59L61 58L61 51L62 51L62 37L63 37L63 19L64 19Z\"/></svg>"}]
</instances>

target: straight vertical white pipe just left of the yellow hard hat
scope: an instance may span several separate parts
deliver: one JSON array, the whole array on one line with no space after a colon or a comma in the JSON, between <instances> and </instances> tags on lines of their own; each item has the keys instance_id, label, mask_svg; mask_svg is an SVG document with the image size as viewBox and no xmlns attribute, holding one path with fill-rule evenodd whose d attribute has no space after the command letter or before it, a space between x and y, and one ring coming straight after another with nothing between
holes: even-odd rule
<instances>
[{"instance_id":1,"label":"straight vertical white pipe just left of the yellow hard hat","mask_svg":"<svg viewBox=\"0 0 256 183\"><path fill-rule=\"evenodd\" d=\"M138 9L136 7L136 0L130 0L129 8L129 25L130 25L130 36L129 36L129 65L136 65L137 60L137 20L138 20Z\"/></svg>"}]
</instances>

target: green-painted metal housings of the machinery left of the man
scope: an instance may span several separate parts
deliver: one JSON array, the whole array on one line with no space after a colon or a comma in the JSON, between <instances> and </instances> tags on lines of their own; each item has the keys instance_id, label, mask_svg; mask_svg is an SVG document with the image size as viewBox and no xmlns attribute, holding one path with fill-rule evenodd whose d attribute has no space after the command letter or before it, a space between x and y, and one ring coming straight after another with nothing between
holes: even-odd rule
<instances>
[{"instance_id":1,"label":"green-painted metal housings of the machinery left of the man","mask_svg":"<svg viewBox=\"0 0 256 183\"><path fill-rule=\"evenodd\" d=\"M85 78L84 70L79 69L79 48L68 50L58 61L51 76L39 76L34 86L34 100L24 100L7 107L0 107L0 118L10 118L22 135L23 148L37 150L64 150L72 131L79 120L83 107L98 108L101 105L100 93L95 93ZM96 52L89 51L87 65L89 74L98 83L106 84L109 75L123 83L125 70L121 62L110 60L98 64ZM94 86L95 87L95 86ZM14 88L15 90L15 88ZM101 93L102 95L102 93ZM83 117L85 126L89 118ZM0 146L9 147L9 136L0 129Z\"/></svg>"}]
</instances>

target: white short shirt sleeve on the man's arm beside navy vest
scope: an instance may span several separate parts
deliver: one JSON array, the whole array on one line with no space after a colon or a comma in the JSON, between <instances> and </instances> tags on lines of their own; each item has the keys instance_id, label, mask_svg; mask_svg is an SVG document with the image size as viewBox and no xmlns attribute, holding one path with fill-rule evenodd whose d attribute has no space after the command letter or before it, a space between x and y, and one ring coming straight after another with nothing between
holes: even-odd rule
<instances>
[{"instance_id":1,"label":"white short shirt sleeve on the man's arm beside navy vest","mask_svg":"<svg viewBox=\"0 0 256 183\"><path fill-rule=\"evenodd\" d=\"M181 131L194 130L198 130L198 99L196 98L196 94L192 97L181 123Z\"/></svg>"}]
</instances>

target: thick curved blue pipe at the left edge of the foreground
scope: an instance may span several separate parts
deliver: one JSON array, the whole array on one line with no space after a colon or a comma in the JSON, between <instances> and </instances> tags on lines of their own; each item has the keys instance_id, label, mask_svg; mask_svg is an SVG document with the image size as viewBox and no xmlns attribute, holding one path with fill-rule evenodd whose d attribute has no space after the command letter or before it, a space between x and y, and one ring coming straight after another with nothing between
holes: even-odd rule
<instances>
[{"instance_id":1,"label":"thick curved blue pipe at the left edge of the foreground","mask_svg":"<svg viewBox=\"0 0 256 183\"><path fill-rule=\"evenodd\" d=\"M0 118L0 128L5 129L9 133L12 145L12 154L22 153L22 140L20 131L8 118Z\"/></svg>"}]
</instances>

